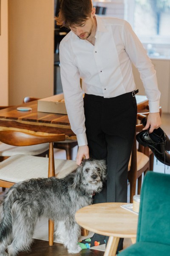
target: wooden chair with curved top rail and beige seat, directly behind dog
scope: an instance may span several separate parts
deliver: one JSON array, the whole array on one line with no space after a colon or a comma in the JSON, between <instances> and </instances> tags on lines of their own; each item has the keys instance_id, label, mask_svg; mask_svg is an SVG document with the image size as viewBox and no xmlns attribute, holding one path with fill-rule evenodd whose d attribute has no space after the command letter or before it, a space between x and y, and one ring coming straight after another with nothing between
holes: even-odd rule
<instances>
[{"instance_id":1,"label":"wooden chair with curved top rail and beige seat, directly behind dog","mask_svg":"<svg viewBox=\"0 0 170 256\"><path fill-rule=\"evenodd\" d=\"M14 146L49 143L49 158L14 155L0 163L0 186L9 188L14 183L38 177L65 177L77 168L76 161L54 160L54 141L65 140L65 134L34 133L32 131L0 131L0 141ZM55 167L54 167L55 166ZM56 172L56 175L55 175ZM53 245L54 221L49 220L49 245Z\"/></svg>"}]
</instances>

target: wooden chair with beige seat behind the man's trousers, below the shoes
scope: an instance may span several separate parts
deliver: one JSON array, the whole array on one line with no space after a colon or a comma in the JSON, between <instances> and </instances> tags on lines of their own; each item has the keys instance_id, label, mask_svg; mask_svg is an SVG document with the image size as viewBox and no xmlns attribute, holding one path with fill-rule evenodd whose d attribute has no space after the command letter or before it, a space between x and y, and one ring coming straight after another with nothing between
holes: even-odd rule
<instances>
[{"instance_id":1,"label":"wooden chair with beige seat behind the man's trousers, below the shoes","mask_svg":"<svg viewBox=\"0 0 170 256\"><path fill-rule=\"evenodd\" d=\"M142 131L143 125L136 125L136 133ZM137 148L136 134L133 141L132 153L128 165L128 181L130 183L130 203L133 203L133 195L136 194L136 181L138 180L138 194L142 186L142 174L149 170L149 148L139 145Z\"/></svg>"}]
</instances>

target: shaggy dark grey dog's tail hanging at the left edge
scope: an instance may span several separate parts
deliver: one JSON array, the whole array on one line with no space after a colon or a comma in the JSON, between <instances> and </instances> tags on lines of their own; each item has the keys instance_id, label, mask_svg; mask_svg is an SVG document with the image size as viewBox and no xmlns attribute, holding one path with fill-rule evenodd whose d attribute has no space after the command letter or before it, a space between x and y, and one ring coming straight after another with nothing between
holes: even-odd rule
<instances>
[{"instance_id":1,"label":"shaggy dark grey dog's tail hanging at the left edge","mask_svg":"<svg viewBox=\"0 0 170 256\"><path fill-rule=\"evenodd\" d=\"M11 207L14 202L14 188L8 190L1 205L0 242L6 239L12 232Z\"/></svg>"}]
</instances>

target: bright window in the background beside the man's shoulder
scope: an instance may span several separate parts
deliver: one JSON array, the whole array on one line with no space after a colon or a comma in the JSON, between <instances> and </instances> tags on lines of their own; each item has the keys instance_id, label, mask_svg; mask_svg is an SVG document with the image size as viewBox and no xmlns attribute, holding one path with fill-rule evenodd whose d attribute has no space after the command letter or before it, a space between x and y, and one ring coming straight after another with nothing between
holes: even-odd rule
<instances>
[{"instance_id":1,"label":"bright window in the background beside the man's shoulder","mask_svg":"<svg viewBox=\"0 0 170 256\"><path fill-rule=\"evenodd\" d=\"M170 57L170 0L125 0L125 19L153 57Z\"/></svg>"}]
</instances>

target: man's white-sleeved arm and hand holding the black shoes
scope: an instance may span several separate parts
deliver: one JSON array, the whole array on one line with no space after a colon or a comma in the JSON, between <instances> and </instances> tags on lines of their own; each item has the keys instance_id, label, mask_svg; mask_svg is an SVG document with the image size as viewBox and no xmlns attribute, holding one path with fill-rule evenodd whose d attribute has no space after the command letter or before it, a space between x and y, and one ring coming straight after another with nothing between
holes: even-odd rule
<instances>
[{"instance_id":1,"label":"man's white-sleeved arm and hand holding the black shoes","mask_svg":"<svg viewBox=\"0 0 170 256\"><path fill-rule=\"evenodd\" d=\"M124 40L126 52L135 67L139 70L147 99L149 99L150 114L147 118L147 124L144 130L150 127L149 132L151 133L161 125L159 115L159 98L161 93L158 89L156 71L142 43L127 22L125 22Z\"/></svg>"}]
</instances>

